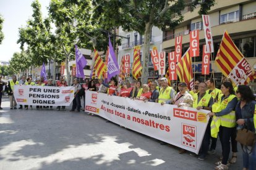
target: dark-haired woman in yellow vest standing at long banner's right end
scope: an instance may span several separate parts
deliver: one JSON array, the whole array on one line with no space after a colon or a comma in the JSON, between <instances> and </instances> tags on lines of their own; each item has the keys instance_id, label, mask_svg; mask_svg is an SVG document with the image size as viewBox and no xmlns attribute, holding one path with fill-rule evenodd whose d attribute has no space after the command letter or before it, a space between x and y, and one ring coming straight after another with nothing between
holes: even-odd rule
<instances>
[{"instance_id":1,"label":"dark-haired woman in yellow vest standing at long banner's right end","mask_svg":"<svg viewBox=\"0 0 256 170\"><path fill-rule=\"evenodd\" d=\"M209 115L213 116L213 121L211 121L211 134L213 134L213 131L216 131L216 129L217 132L219 131L223 156L222 160L215 163L218 165L215 169L228 169L227 164L230 152L229 140L231 134L236 131L236 115L233 110L237 104L237 97L234 94L232 84L228 81L221 84L221 92L222 95L218 100L220 111L210 113ZM219 123L219 126L216 126L216 122Z\"/></svg>"}]
</instances>

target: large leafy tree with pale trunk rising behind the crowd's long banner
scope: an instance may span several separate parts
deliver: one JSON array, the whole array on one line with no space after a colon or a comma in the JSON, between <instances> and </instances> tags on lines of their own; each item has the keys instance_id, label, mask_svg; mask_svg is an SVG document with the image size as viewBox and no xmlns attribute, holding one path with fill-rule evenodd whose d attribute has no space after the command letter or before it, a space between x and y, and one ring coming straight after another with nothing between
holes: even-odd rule
<instances>
[{"instance_id":1,"label":"large leafy tree with pale trunk rising behind the crowd's long banner","mask_svg":"<svg viewBox=\"0 0 256 170\"><path fill-rule=\"evenodd\" d=\"M200 4L199 14L206 14L214 3L215 0L203 1ZM146 83L152 27L157 26L161 30L168 27L175 28L183 20L182 10L186 6L194 9L199 2L198 0L93 0L93 4L97 6L98 15L109 17L108 20L103 21L106 25L115 23L124 30L137 31L144 35L142 82ZM119 16L119 18L116 20L116 17L111 16Z\"/></svg>"}]
</instances>

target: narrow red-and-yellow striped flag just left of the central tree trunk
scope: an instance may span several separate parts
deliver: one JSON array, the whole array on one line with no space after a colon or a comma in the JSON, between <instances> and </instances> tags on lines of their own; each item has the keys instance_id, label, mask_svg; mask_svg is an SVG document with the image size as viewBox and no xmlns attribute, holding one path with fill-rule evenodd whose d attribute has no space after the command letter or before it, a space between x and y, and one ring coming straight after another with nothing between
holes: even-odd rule
<instances>
[{"instance_id":1,"label":"narrow red-and-yellow striped flag just left of the central tree trunk","mask_svg":"<svg viewBox=\"0 0 256 170\"><path fill-rule=\"evenodd\" d=\"M132 63L132 76L138 79L142 75L142 63L140 62L140 46L134 47L134 63Z\"/></svg>"}]
</instances>

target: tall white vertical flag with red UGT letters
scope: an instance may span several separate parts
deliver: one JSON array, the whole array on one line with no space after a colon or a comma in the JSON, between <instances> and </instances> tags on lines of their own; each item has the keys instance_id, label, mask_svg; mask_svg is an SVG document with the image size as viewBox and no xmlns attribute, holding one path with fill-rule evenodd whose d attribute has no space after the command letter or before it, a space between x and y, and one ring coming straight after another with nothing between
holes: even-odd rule
<instances>
[{"instance_id":1,"label":"tall white vertical flag with red UGT letters","mask_svg":"<svg viewBox=\"0 0 256 170\"><path fill-rule=\"evenodd\" d=\"M205 43L206 43L206 52L214 52L213 49L213 36L211 34L211 23L209 15L202 15L203 18L203 30L205 31Z\"/></svg>"}]
</instances>

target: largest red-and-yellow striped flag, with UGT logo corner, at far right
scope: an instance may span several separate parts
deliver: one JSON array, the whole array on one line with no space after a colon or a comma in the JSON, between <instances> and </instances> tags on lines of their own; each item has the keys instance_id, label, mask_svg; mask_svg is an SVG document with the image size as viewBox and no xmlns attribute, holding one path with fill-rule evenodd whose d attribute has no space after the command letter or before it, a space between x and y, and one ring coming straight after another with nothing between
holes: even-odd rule
<instances>
[{"instance_id":1,"label":"largest red-and-yellow striped flag, with UGT logo corner, at far right","mask_svg":"<svg viewBox=\"0 0 256 170\"><path fill-rule=\"evenodd\" d=\"M217 52L216 65L224 76L229 76L236 85L248 84L256 78L252 67L225 31Z\"/></svg>"}]
</instances>

